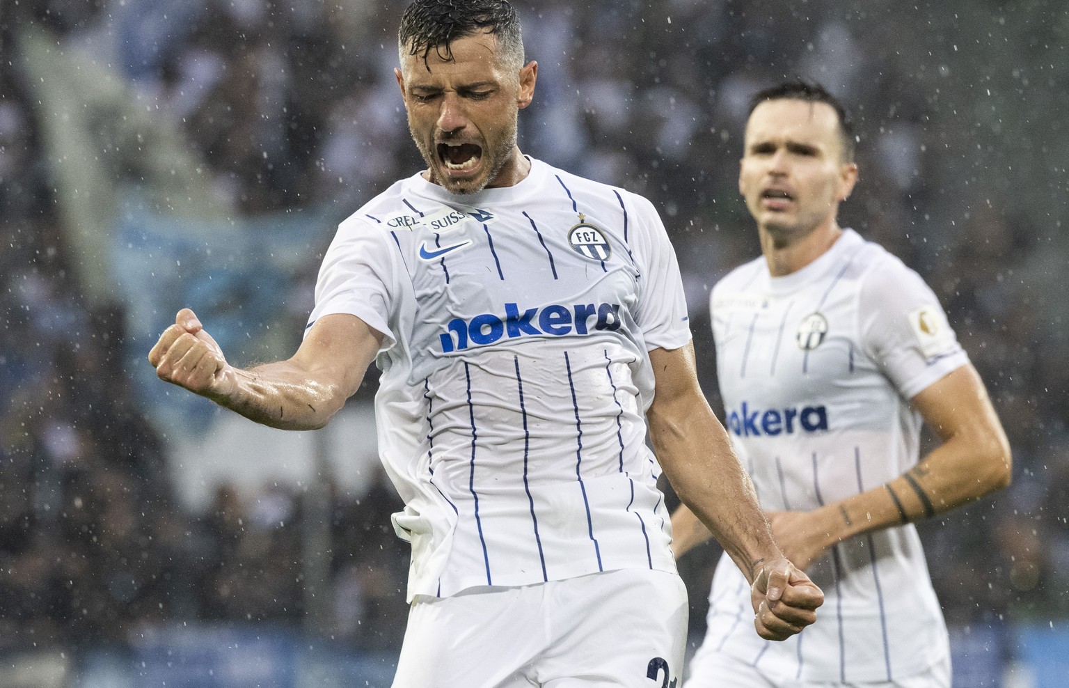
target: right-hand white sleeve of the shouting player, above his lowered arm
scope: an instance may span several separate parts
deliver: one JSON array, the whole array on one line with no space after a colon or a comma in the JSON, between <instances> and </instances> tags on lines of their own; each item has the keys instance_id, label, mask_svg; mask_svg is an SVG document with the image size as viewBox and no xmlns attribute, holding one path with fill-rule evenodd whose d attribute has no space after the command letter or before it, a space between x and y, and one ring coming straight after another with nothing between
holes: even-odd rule
<instances>
[{"instance_id":1,"label":"right-hand white sleeve of the shouting player, above his lowered arm","mask_svg":"<svg viewBox=\"0 0 1069 688\"><path fill-rule=\"evenodd\" d=\"M640 196L628 198L636 214L632 246L641 271L635 320L647 350L679 349L691 341L691 323L676 250L653 204Z\"/></svg>"}]
</instances>

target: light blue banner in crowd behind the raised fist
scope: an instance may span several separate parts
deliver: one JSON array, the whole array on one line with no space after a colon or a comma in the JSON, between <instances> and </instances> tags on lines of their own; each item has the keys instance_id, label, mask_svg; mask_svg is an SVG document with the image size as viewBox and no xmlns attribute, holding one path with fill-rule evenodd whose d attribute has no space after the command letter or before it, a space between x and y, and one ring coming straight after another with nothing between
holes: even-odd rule
<instances>
[{"instance_id":1,"label":"light blue banner in crowd behind the raised fist","mask_svg":"<svg viewBox=\"0 0 1069 688\"><path fill-rule=\"evenodd\" d=\"M204 221L125 204L109 248L111 267L127 311L127 372L155 413L202 426L217 413L211 402L160 383L146 358L183 307L197 312L234 365L293 353L338 219L306 209Z\"/></svg>"}]
</instances>

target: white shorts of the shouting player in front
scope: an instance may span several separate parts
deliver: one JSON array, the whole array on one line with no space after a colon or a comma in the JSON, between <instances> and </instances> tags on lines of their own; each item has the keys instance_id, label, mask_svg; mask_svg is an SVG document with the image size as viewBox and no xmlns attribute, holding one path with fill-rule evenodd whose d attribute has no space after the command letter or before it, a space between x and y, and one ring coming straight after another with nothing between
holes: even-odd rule
<instances>
[{"instance_id":1,"label":"white shorts of the shouting player in front","mask_svg":"<svg viewBox=\"0 0 1069 688\"><path fill-rule=\"evenodd\" d=\"M664 571L420 595L393 688L677 688L686 622L683 581Z\"/></svg>"}]
</instances>

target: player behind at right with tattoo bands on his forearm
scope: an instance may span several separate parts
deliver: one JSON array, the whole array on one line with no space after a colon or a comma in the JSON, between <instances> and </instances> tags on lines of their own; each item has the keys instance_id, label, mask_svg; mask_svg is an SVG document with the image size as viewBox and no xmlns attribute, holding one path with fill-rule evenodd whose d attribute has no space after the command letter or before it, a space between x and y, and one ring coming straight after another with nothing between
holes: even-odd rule
<instances>
[{"instance_id":1,"label":"player behind at right with tattoo bands on his forearm","mask_svg":"<svg viewBox=\"0 0 1069 688\"><path fill-rule=\"evenodd\" d=\"M739 189L762 257L711 294L727 425L784 552L827 594L787 643L741 632L747 581L722 561L688 688L949 688L946 627L914 521L1010 479L983 384L934 294L836 223L857 180L842 106L819 86L758 93ZM921 423L942 444L917 461ZM708 538L685 506L677 555Z\"/></svg>"}]
</instances>

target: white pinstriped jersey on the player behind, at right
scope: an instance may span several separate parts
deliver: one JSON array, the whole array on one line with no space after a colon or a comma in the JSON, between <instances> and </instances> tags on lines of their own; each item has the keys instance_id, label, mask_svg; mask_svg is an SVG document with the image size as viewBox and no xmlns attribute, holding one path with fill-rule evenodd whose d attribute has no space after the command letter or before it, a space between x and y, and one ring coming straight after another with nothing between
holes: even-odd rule
<instances>
[{"instance_id":1,"label":"white pinstriped jersey on the player behind, at right","mask_svg":"<svg viewBox=\"0 0 1069 688\"><path fill-rule=\"evenodd\" d=\"M728 432L766 510L809 510L880 486L917 462L910 399L967 363L920 277L846 230L802 270L764 258L710 296ZM833 547L807 570L818 621L783 642L753 631L749 591L726 557L710 596L708 651L784 681L882 682L947 656L947 633L916 529Z\"/></svg>"}]
</instances>

